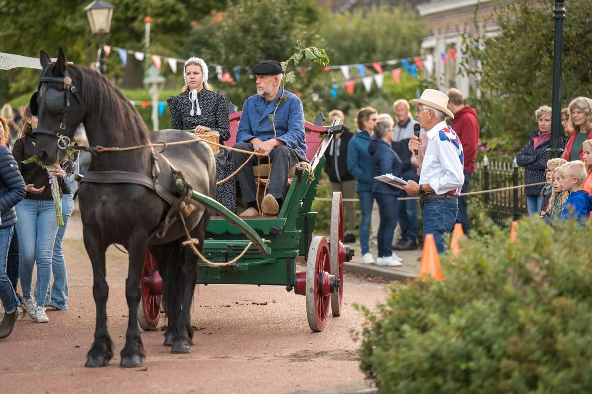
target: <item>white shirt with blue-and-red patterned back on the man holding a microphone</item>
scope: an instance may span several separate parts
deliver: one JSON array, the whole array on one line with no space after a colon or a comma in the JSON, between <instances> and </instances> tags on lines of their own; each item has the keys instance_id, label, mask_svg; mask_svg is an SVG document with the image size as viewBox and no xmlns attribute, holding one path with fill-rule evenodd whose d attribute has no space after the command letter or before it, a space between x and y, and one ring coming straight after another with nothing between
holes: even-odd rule
<instances>
[{"instance_id":1,"label":"white shirt with blue-and-red patterned back on the man holding a microphone","mask_svg":"<svg viewBox=\"0 0 592 394\"><path fill-rule=\"evenodd\" d=\"M429 129L426 136L427 148L419 184L429 184L436 194L458 196L465 182L461 140L445 121Z\"/></svg>"}]
</instances>

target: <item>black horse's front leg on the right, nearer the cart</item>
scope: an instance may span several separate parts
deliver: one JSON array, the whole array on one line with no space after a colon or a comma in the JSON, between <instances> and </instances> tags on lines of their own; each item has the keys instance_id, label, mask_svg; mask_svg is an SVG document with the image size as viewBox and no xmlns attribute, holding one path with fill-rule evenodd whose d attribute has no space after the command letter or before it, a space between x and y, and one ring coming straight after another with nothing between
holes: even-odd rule
<instances>
[{"instance_id":1,"label":"black horse's front leg on the right, nearer the cart","mask_svg":"<svg viewBox=\"0 0 592 394\"><path fill-rule=\"evenodd\" d=\"M140 275L146 253L146 235L135 234L128 239L128 253L130 265L126 279L127 308L130 312L126 331L126 346L121 350L120 367L135 368L142 366L144 345L138 329L137 311L140 304Z\"/></svg>"}]
</instances>

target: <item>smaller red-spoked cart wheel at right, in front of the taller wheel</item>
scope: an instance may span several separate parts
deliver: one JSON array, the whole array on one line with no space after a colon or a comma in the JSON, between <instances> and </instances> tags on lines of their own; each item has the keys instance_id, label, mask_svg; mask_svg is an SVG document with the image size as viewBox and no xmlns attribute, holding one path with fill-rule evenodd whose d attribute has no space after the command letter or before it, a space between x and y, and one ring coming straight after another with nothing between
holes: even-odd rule
<instances>
[{"instance_id":1,"label":"smaller red-spoked cart wheel at right, in front of the taller wheel","mask_svg":"<svg viewBox=\"0 0 592 394\"><path fill-rule=\"evenodd\" d=\"M334 276L330 273L329 245L325 237L314 237L306 263L306 314L310 329L323 331L329 314L329 294Z\"/></svg>"}]
</instances>

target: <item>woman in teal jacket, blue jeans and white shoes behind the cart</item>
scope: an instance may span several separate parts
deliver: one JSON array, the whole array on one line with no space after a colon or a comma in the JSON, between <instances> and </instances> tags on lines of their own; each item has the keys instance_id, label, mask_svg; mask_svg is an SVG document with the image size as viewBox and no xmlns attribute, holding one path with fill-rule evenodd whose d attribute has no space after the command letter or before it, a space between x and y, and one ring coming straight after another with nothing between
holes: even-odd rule
<instances>
[{"instance_id":1,"label":"woman in teal jacket, blue jeans and white shoes behind the cart","mask_svg":"<svg viewBox=\"0 0 592 394\"><path fill-rule=\"evenodd\" d=\"M370 237L370 220L372 217L372 205L374 194L372 184L374 170L372 170L372 157L368 153L368 144L372 136L374 126L378 120L378 112L372 107L362 108L356 113L356 135L350 139L348 144L348 171L356 178L356 192L360 200L359 235L360 247L362 249L362 261L365 264L374 263L374 257L370 253L368 239Z\"/></svg>"}]
</instances>

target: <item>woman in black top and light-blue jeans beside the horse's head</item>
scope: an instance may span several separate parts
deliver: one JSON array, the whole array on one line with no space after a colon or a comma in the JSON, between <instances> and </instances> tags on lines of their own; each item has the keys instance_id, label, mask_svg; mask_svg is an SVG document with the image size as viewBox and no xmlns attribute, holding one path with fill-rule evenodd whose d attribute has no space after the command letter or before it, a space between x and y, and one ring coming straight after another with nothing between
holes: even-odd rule
<instances>
[{"instance_id":1,"label":"woman in black top and light-blue jeans beside the horse's head","mask_svg":"<svg viewBox=\"0 0 592 394\"><path fill-rule=\"evenodd\" d=\"M35 95L34 95L35 96ZM36 97L31 97L31 105L25 109L24 121L20 138L14 143L12 154L17 161L25 181L24 200L17 204L18 248L21 262L19 276L21 278L22 302L27 314L37 323L49 321L45 312L45 301L52 276L53 244L56 240L57 221L56 208L52 199L49 174L40 165L22 161L35 154L34 139L31 131L37 128ZM58 178L65 176L59 166L51 170ZM60 191L60 198L61 198ZM31 297L33 281L33 265L37 262L37 282L39 285L38 302Z\"/></svg>"}]
</instances>

